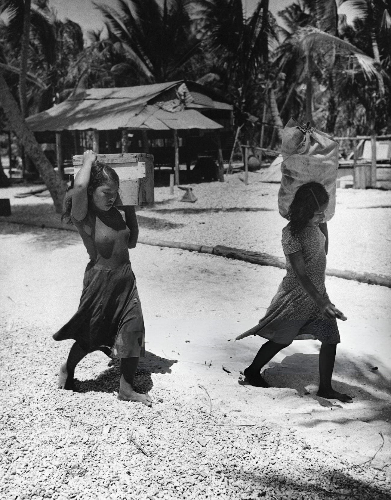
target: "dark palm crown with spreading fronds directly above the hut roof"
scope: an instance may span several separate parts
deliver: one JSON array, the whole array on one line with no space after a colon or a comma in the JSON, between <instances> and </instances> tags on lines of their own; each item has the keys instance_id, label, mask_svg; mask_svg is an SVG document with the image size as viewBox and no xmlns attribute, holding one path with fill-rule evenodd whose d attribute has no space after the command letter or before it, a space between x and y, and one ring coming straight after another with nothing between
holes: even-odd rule
<instances>
[{"instance_id":1,"label":"dark palm crown with spreading fronds directly above the hut roof","mask_svg":"<svg viewBox=\"0 0 391 500\"><path fill-rule=\"evenodd\" d=\"M116 8L94 3L103 13L107 45L119 61L118 74L134 75L139 83L181 79L191 67L200 43L190 30L183 0L117 0ZM103 54L105 55L105 54Z\"/></svg>"}]
</instances>

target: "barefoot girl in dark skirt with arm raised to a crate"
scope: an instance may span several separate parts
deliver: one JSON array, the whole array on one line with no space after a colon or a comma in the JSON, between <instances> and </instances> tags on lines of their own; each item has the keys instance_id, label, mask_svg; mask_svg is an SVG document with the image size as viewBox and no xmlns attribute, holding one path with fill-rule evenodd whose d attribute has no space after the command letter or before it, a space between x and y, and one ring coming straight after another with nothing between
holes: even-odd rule
<instances>
[{"instance_id":1,"label":"barefoot girl in dark skirt with arm raised to a crate","mask_svg":"<svg viewBox=\"0 0 391 500\"><path fill-rule=\"evenodd\" d=\"M144 320L128 248L134 248L138 225L134 206L116 208L119 178L116 171L95 161L92 150L83 154L72 196L62 218L73 223L90 257L80 304L73 317L54 335L73 338L68 358L61 364L58 386L75 390L74 370L88 353L101 350L121 359L118 399L151 406L148 394L133 390L140 355L144 355Z\"/></svg>"}]
</instances>

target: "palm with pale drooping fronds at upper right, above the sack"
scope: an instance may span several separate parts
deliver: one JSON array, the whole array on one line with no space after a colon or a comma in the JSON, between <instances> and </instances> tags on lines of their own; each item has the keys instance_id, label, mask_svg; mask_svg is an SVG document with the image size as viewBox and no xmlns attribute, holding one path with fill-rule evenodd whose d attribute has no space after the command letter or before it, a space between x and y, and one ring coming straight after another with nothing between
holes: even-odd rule
<instances>
[{"instance_id":1,"label":"palm with pale drooping fronds at upper right, above the sack","mask_svg":"<svg viewBox=\"0 0 391 500\"><path fill-rule=\"evenodd\" d=\"M286 83L290 89L285 88L284 93L294 97L295 85L305 86L303 117L314 122L315 85L318 94L315 98L322 101L319 105L326 111L322 113L326 114L322 125L333 132L343 90L349 81L375 79L382 90L382 74L372 57L340 37L335 0L300 0L281 14L288 28L283 33L285 39L278 49L276 63L288 76Z\"/></svg>"}]
</instances>

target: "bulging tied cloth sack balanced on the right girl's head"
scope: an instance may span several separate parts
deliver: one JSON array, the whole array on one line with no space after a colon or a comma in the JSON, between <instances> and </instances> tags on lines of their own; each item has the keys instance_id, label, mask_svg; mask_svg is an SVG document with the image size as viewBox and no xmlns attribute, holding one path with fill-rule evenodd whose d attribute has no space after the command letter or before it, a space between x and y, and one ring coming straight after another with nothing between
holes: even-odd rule
<instances>
[{"instance_id":1,"label":"bulging tied cloth sack balanced on the right girl's head","mask_svg":"<svg viewBox=\"0 0 391 500\"><path fill-rule=\"evenodd\" d=\"M324 221L330 220L336 207L338 142L316 128L299 126L291 118L284 128L281 154L282 178L278 191L280 215L287 218L289 205L301 185L319 182L330 196Z\"/></svg>"}]
</instances>

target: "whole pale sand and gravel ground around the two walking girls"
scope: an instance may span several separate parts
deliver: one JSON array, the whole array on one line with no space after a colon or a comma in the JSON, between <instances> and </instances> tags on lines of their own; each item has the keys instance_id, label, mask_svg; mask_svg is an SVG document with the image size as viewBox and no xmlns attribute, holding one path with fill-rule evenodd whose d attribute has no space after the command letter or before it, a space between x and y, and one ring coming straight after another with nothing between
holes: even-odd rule
<instances>
[{"instance_id":1,"label":"whole pale sand and gravel ground around the two walking girls","mask_svg":"<svg viewBox=\"0 0 391 500\"><path fill-rule=\"evenodd\" d=\"M193 185L195 203L156 188L137 212L140 236L282 256L278 185L242 175ZM77 233L47 227L59 225L50 198L14 197L28 190L0 190L12 205L0 218L1 498L391 497L390 288L327 278L348 316L334 376L354 396L344 404L315 395L316 341L269 363L271 388L241 383L263 340L234 338L284 270L139 244L147 355L136 381L152 408L116 399L118 363L102 353L80 363L80 392L61 391L71 341L51 335L77 308L87 254ZM390 207L389 191L338 189L330 267L390 276Z\"/></svg>"}]
</instances>

